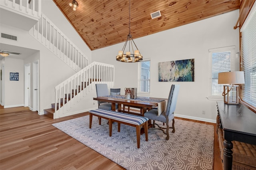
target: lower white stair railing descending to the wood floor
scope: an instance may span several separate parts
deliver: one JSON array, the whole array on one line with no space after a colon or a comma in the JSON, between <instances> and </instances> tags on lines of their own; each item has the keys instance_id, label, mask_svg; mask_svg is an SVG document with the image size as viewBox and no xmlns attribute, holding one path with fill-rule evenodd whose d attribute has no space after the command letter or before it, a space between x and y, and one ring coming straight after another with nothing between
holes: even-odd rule
<instances>
[{"instance_id":1,"label":"lower white stair railing descending to the wood floor","mask_svg":"<svg viewBox=\"0 0 256 170\"><path fill-rule=\"evenodd\" d=\"M65 117L68 111L85 97L95 83L114 86L114 65L93 62L55 87L54 119Z\"/></svg>"}]
</instances>

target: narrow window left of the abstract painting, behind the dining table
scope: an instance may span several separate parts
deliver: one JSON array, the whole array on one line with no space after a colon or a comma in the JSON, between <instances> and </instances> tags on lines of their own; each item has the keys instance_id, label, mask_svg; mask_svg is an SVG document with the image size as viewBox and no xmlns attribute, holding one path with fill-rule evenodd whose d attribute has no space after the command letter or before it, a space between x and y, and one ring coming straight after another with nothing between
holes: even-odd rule
<instances>
[{"instance_id":1,"label":"narrow window left of the abstract painting, behind the dining table","mask_svg":"<svg viewBox=\"0 0 256 170\"><path fill-rule=\"evenodd\" d=\"M138 93L150 93L150 59L138 62Z\"/></svg>"}]
</instances>

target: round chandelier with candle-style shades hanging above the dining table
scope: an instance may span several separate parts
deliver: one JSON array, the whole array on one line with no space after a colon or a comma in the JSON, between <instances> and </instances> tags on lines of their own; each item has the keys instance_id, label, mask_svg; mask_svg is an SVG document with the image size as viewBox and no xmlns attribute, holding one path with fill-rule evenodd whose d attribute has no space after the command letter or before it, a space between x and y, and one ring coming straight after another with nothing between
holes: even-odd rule
<instances>
[{"instance_id":1,"label":"round chandelier with candle-style shades hanging above the dining table","mask_svg":"<svg viewBox=\"0 0 256 170\"><path fill-rule=\"evenodd\" d=\"M127 36L126 42L124 43L124 47L122 49L122 51L118 51L118 55L116 56L116 61L120 61L120 62L138 62L138 61L142 61L143 57L140 54L140 51L138 50L136 44L134 43L133 39L132 39L132 35L130 32L130 0L129 0L129 34ZM124 50L126 48L126 44L129 43L129 51L127 51L124 54ZM133 50L133 45L136 47L136 50ZM132 47L132 53L130 52L130 46Z\"/></svg>"}]
</instances>

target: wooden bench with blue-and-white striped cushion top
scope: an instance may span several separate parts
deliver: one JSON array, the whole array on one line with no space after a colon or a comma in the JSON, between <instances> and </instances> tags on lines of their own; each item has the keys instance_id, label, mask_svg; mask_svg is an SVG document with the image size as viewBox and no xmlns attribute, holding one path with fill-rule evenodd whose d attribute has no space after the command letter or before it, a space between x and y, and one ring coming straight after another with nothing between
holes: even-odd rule
<instances>
[{"instance_id":1,"label":"wooden bench with blue-and-white striped cushion top","mask_svg":"<svg viewBox=\"0 0 256 170\"><path fill-rule=\"evenodd\" d=\"M126 113L120 113L116 111L110 111L105 109L95 109L89 111L90 115L90 125L89 128L92 128L92 116L99 118L99 125L101 125L101 118L108 120L109 125L109 136L112 136L112 122L118 123L118 132L120 132L120 124L130 125L136 127L137 134L137 147L140 148L140 128L143 126L146 141L148 141L148 118L130 115Z\"/></svg>"}]
</instances>

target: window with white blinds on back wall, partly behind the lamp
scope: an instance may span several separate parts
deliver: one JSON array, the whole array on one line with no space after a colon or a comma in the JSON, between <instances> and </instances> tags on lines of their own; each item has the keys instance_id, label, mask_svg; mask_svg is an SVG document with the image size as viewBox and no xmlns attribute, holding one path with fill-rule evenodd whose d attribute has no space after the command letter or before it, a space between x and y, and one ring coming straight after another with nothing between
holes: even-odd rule
<instances>
[{"instance_id":1,"label":"window with white blinds on back wall, partly behind the lamp","mask_svg":"<svg viewBox=\"0 0 256 170\"><path fill-rule=\"evenodd\" d=\"M223 100L223 85L218 84L218 73L235 71L235 46L209 49L209 96L208 99Z\"/></svg>"}]
</instances>

